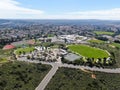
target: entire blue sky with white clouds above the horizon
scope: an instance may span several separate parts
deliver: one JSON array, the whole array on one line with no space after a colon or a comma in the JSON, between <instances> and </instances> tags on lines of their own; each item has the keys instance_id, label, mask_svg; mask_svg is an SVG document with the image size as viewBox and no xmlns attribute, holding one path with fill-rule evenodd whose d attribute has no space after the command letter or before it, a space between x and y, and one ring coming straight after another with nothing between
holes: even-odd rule
<instances>
[{"instance_id":1,"label":"entire blue sky with white clouds above the horizon","mask_svg":"<svg viewBox=\"0 0 120 90\"><path fill-rule=\"evenodd\" d=\"M120 0L0 0L0 18L120 20Z\"/></svg>"}]
</instances>

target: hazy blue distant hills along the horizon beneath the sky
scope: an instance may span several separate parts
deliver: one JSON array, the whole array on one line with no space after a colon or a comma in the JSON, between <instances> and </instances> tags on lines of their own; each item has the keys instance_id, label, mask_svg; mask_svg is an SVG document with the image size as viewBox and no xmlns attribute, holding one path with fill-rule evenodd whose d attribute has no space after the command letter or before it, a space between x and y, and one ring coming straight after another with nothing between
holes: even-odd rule
<instances>
[{"instance_id":1,"label":"hazy blue distant hills along the horizon beneath the sky","mask_svg":"<svg viewBox=\"0 0 120 90\"><path fill-rule=\"evenodd\" d=\"M32 23L39 23L39 24L57 24L57 25L104 25L104 24L120 24L120 21L117 20L94 20L94 19L88 19L88 20L58 20L58 19L41 19L41 20L34 20L34 19L16 19L16 20L10 20L10 19L0 19L0 25L1 24L32 24Z\"/></svg>"}]
</instances>

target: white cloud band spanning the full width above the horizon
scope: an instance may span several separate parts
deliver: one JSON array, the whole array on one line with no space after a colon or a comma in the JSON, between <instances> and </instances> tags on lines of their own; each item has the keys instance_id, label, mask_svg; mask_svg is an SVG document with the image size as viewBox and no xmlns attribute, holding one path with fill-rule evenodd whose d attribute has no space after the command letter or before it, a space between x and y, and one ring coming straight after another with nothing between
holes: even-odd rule
<instances>
[{"instance_id":1,"label":"white cloud band spanning the full width above the horizon","mask_svg":"<svg viewBox=\"0 0 120 90\"><path fill-rule=\"evenodd\" d=\"M96 11L77 11L49 15L41 10L21 7L20 3L16 0L0 0L0 18L120 20L120 8Z\"/></svg>"}]
</instances>

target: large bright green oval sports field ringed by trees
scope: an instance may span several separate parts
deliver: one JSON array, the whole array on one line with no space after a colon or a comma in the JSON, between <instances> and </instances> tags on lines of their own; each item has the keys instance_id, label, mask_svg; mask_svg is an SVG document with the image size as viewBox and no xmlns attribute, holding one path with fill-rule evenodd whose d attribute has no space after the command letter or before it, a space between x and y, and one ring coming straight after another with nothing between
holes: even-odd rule
<instances>
[{"instance_id":1,"label":"large bright green oval sports field ringed by trees","mask_svg":"<svg viewBox=\"0 0 120 90\"><path fill-rule=\"evenodd\" d=\"M78 53L88 58L104 58L109 57L109 54L102 49L90 47L88 45L69 45L70 51Z\"/></svg>"}]
</instances>

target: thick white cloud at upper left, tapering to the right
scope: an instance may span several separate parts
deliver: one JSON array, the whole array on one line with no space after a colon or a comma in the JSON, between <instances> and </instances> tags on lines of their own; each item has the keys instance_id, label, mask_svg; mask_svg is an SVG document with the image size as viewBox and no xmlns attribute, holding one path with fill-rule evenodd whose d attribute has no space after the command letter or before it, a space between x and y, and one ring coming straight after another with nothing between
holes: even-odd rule
<instances>
[{"instance_id":1,"label":"thick white cloud at upper left, tapering to the right","mask_svg":"<svg viewBox=\"0 0 120 90\"><path fill-rule=\"evenodd\" d=\"M43 13L41 10L21 7L15 0L0 0L0 18L35 18Z\"/></svg>"}]
</instances>

